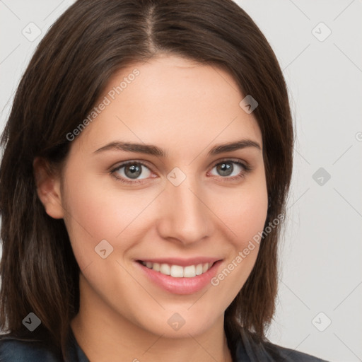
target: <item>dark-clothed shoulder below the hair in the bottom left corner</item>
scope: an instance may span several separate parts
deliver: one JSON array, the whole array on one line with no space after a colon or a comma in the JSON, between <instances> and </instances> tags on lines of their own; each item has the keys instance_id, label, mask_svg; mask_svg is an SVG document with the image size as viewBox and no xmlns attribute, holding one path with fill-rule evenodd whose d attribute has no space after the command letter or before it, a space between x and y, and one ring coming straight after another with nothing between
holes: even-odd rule
<instances>
[{"instance_id":1,"label":"dark-clothed shoulder below the hair in the bottom left corner","mask_svg":"<svg viewBox=\"0 0 362 362\"><path fill-rule=\"evenodd\" d=\"M59 362L54 352L41 341L27 340L13 334L0 335L0 362Z\"/></svg>"}]
</instances>

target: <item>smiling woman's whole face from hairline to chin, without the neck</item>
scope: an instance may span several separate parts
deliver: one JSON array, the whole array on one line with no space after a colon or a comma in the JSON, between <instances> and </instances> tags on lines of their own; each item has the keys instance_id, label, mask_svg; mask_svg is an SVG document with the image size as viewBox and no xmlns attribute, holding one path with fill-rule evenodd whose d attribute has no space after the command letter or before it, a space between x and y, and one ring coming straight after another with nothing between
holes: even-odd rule
<instances>
[{"instance_id":1,"label":"smiling woman's whole face from hairline to chin, without the neck","mask_svg":"<svg viewBox=\"0 0 362 362\"><path fill-rule=\"evenodd\" d=\"M72 141L57 216L81 298L108 323L200 334L245 284L267 185L262 134L243 98L222 69L158 57L115 74L96 104L105 107Z\"/></svg>"}]
</instances>

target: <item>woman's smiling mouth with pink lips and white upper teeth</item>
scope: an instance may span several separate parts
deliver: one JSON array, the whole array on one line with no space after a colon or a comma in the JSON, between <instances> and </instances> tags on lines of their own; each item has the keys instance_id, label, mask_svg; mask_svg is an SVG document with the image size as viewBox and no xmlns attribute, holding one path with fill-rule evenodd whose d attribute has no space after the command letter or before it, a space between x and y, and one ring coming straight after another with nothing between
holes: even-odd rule
<instances>
[{"instance_id":1,"label":"woman's smiling mouth with pink lips and white upper teeth","mask_svg":"<svg viewBox=\"0 0 362 362\"><path fill-rule=\"evenodd\" d=\"M218 271L222 259L136 260L136 266L148 281L174 294L192 294L202 290ZM182 264L182 265L180 265Z\"/></svg>"}]
</instances>

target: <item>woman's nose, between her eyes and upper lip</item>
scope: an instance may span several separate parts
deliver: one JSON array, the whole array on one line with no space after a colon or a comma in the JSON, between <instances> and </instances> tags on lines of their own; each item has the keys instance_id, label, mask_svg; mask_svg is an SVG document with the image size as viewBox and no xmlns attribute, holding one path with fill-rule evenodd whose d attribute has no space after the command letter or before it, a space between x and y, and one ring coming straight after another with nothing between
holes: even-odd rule
<instances>
[{"instance_id":1,"label":"woman's nose, between her eyes and upper lip","mask_svg":"<svg viewBox=\"0 0 362 362\"><path fill-rule=\"evenodd\" d=\"M205 189L194 177L187 176L178 186L168 181L158 205L157 226L161 237L188 245L211 235L213 214Z\"/></svg>"}]
</instances>

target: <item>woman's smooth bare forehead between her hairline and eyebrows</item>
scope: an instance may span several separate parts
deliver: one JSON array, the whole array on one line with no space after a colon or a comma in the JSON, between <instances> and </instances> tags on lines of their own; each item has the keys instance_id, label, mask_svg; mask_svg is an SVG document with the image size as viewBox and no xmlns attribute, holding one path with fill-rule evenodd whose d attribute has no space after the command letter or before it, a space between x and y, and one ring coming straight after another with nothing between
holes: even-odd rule
<instances>
[{"instance_id":1,"label":"woman's smooth bare forehead between her hairline and eyebrows","mask_svg":"<svg viewBox=\"0 0 362 362\"><path fill-rule=\"evenodd\" d=\"M108 81L95 106L107 103L78 137L85 148L119 140L157 144L184 156L241 138L262 145L257 121L227 71L163 56L132 64Z\"/></svg>"}]
</instances>

